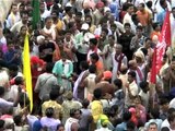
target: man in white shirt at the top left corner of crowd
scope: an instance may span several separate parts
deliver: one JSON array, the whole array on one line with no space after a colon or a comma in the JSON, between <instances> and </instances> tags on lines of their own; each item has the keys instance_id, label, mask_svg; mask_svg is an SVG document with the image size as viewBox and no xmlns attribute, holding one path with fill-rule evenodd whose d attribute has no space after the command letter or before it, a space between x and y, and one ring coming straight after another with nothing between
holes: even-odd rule
<instances>
[{"instance_id":1,"label":"man in white shirt at the top left corner of crowd","mask_svg":"<svg viewBox=\"0 0 175 131\"><path fill-rule=\"evenodd\" d=\"M18 5L13 3L11 13L8 16L8 22L9 22L10 27L12 27L20 20L21 20L21 16L20 16L20 12L18 11Z\"/></svg>"}]
</instances>

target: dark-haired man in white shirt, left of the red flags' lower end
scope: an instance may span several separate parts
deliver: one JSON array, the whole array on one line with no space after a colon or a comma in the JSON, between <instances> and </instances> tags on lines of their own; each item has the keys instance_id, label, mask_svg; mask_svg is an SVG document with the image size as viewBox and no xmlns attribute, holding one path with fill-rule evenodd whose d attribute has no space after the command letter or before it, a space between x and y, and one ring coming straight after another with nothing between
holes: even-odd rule
<instances>
[{"instance_id":1,"label":"dark-haired man in white shirt, left of the red flags' lower end","mask_svg":"<svg viewBox=\"0 0 175 131\"><path fill-rule=\"evenodd\" d=\"M128 86L126 87L126 98L125 98L125 106L129 107L133 104L135 96L139 94L139 87L136 83L136 72L130 71L128 73Z\"/></svg>"}]
</instances>

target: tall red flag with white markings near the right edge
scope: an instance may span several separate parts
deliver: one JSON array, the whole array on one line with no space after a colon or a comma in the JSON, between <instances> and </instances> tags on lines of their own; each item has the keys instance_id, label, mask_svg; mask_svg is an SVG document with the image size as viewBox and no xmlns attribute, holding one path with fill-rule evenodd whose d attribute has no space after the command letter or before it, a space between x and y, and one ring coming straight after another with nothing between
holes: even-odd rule
<instances>
[{"instance_id":1,"label":"tall red flag with white markings near the right edge","mask_svg":"<svg viewBox=\"0 0 175 131\"><path fill-rule=\"evenodd\" d=\"M167 46L171 46L170 11L166 12L165 21L162 26L162 32L159 37L159 44L156 45L156 74L162 68L162 60Z\"/></svg>"}]
</instances>

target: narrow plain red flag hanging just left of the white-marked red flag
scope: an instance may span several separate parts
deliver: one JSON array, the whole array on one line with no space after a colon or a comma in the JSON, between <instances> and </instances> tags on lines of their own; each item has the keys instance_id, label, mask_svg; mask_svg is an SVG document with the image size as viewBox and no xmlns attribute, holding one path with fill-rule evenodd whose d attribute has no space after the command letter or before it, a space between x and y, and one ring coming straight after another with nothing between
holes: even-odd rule
<instances>
[{"instance_id":1,"label":"narrow plain red flag hanging just left of the white-marked red flag","mask_svg":"<svg viewBox=\"0 0 175 131\"><path fill-rule=\"evenodd\" d=\"M155 84L155 82L156 82L156 47L154 48L154 53L153 53L153 58L152 58L150 82L152 84Z\"/></svg>"}]
</instances>

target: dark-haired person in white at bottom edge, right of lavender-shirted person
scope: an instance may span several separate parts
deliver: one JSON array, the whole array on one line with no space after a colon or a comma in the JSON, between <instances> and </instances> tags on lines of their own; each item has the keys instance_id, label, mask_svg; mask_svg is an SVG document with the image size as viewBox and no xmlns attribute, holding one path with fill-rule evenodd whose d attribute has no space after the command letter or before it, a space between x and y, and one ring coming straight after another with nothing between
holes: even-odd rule
<instances>
[{"instance_id":1,"label":"dark-haired person in white at bottom edge, right of lavender-shirted person","mask_svg":"<svg viewBox=\"0 0 175 131\"><path fill-rule=\"evenodd\" d=\"M70 118L67 119L66 124L65 124L65 130L66 131L79 131L80 118L81 118L81 110L80 109L71 109L70 110Z\"/></svg>"}]
</instances>

